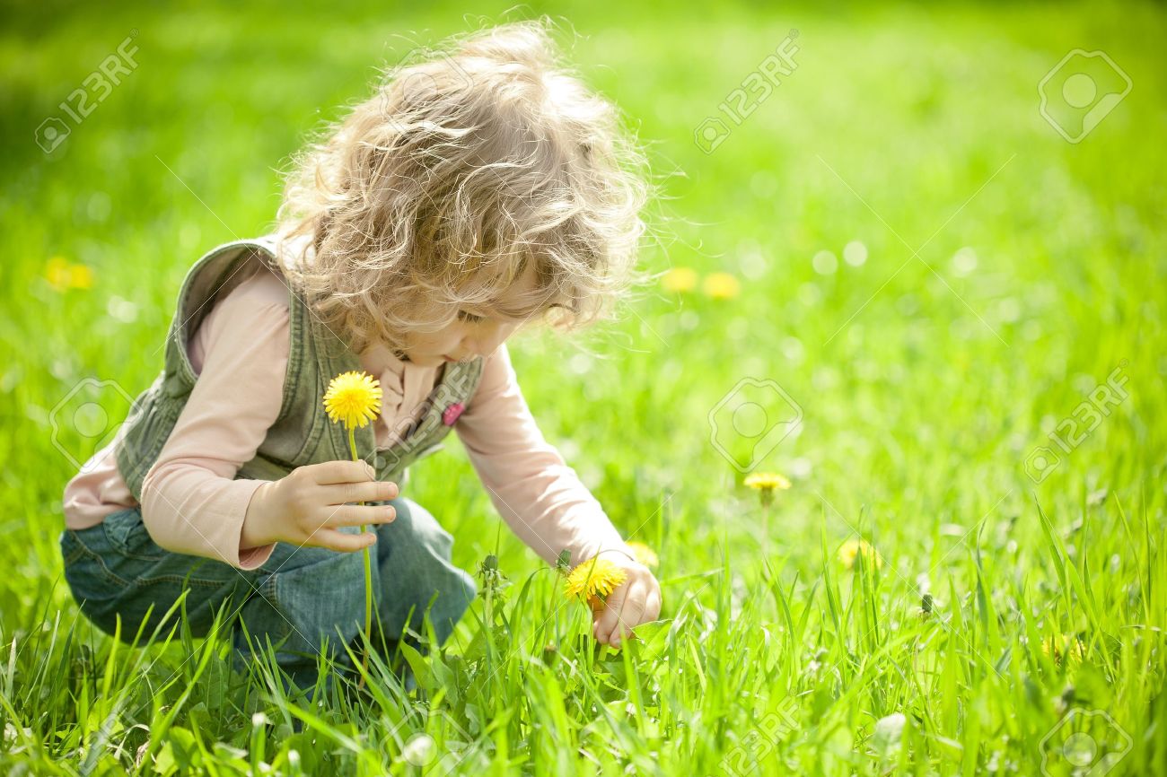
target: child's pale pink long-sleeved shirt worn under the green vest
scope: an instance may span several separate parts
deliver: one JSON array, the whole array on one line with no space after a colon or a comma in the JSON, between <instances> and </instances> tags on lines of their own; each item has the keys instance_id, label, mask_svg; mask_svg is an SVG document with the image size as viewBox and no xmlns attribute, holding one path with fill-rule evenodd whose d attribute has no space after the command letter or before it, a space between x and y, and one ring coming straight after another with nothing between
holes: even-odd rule
<instances>
[{"instance_id":1,"label":"child's pale pink long-sleeved shirt worn under the green vest","mask_svg":"<svg viewBox=\"0 0 1167 777\"><path fill-rule=\"evenodd\" d=\"M142 483L142 523L159 546L240 569L254 569L272 554L274 542L242 547L247 505L263 481L235 475L275 421L288 351L288 292L270 272L242 282L198 327L189 343L198 380ZM375 424L377 444L386 448L394 441L391 429L406 428L422 406L439 368L403 362L384 346L359 358L380 379L384 397ZM578 564L601 550L628 552L599 502L543 438L505 345L485 358L482 380L454 430L495 509L540 558L554 562L567 548ZM65 487L69 528L139 506L118 471L118 442L114 438L95 454ZM434 512L440 517L440 506Z\"/></svg>"}]
</instances>

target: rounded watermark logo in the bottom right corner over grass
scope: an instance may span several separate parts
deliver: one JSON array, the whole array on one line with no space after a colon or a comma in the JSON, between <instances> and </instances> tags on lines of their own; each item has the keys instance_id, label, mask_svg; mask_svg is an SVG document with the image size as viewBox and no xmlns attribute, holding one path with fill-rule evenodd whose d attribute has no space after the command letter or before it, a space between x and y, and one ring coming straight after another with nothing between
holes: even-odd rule
<instances>
[{"instance_id":1,"label":"rounded watermark logo in the bottom right corner over grass","mask_svg":"<svg viewBox=\"0 0 1167 777\"><path fill-rule=\"evenodd\" d=\"M1041 740L1046 777L1103 777L1133 744L1131 735L1102 709L1074 708Z\"/></svg>"}]
</instances>

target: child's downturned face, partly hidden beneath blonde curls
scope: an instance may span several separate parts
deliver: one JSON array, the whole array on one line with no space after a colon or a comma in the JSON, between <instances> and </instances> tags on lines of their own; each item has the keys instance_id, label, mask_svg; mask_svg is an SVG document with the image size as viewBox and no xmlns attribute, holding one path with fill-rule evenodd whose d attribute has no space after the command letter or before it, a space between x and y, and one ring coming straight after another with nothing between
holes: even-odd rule
<instances>
[{"instance_id":1,"label":"child's downturned face, partly hidden beneath blonde curls","mask_svg":"<svg viewBox=\"0 0 1167 777\"><path fill-rule=\"evenodd\" d=\"M498 308L517 306L534 286L533 267L513 284L499 299ZM401 354L418 366L438 366L446 362L468 362L476 356L489 356L526 318L513 317L497 310L463 308L457 318L433 332L413 332Z\"/></svg>"}]
</instances>

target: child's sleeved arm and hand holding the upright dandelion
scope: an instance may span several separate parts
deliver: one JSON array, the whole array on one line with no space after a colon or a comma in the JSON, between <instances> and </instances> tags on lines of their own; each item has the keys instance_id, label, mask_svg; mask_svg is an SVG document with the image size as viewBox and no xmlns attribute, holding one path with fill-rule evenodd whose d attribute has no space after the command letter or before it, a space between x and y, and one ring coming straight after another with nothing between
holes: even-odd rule
<instances>
[{"instance_id":1,"label":"child's sleeved arm and hand holding the upright dandelion","mask_svg":"<svg viewBox=\"0 0 1167 777\"><path fill-rule=\"evenodd\" d=\"M391 508L340 506L396 496L396 485L373 483L359 463L301 467L272 482L233 480L282 405L287 294L260 273L216 303L191 341L198 379L142 483L142 522L169 551L254 569L277 540L356 551L371 538L329 528L392 520Z\"/></svg>"}]
</instances>

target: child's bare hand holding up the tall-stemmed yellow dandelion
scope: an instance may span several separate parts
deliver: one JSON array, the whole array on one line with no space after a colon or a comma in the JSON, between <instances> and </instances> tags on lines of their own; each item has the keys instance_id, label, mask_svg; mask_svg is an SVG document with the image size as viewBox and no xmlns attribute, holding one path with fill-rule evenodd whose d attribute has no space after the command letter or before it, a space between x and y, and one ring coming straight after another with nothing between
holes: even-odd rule
<instances>
[{"instance_id":1,"label":"child's bare hand holding up the tall-stemmed yellow dandelion","mask_svg":"<svg viewBox=\"0 0 1167 777\"><path fill-rule=\"evenodd\" d=\"M398 494L396 483L373 480L372 468L359 461L328 461L294 469L286 477L256 489L243 522L242 547L280 541L352 553L377 541L377 534L347 534L338 526L387 524L397 518L380 502Z\"/></svg>"}]
</instances>

